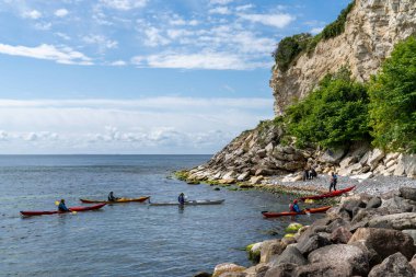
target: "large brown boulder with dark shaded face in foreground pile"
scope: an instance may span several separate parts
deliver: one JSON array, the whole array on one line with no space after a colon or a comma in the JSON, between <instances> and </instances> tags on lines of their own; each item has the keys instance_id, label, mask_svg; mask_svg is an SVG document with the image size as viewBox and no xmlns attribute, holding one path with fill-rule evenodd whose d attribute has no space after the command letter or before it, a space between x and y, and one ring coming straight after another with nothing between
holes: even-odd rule
<instances>
[{"instance_id":1,"label":"large brown boulder with dark shaded face in foreground pile","mask_svg":"<svg viewBox=\"0 0 416 277\"><path fill-rule=\"evenodd\" d=\"M407 258L414 254L413 239L397 230L359 228L348 244L363 241L362 243L369 250L374 250L381 258L385 258L396 252L401 252Z\"/></svg>"}]
</instances>

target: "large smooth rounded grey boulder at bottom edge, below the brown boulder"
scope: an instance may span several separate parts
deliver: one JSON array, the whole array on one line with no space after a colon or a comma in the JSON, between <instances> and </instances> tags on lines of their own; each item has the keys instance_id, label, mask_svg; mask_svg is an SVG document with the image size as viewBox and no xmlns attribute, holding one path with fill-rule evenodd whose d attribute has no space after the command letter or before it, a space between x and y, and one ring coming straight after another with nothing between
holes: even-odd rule
<instances>
[{"instance_id":1,"label":"large smooth rounded grey boulder at bottom edge, below the brown boulder","mask_svg":"<svg viewBox=\"0 0 416 277\"><path fill-rule=\"evenodd\" d=\"M367 275L369 263L365 252L354 245L333 244L313 251L308 255L312 264L330 262L334 265L350 265L353 275Z\"/></svg>"}]
</instances>

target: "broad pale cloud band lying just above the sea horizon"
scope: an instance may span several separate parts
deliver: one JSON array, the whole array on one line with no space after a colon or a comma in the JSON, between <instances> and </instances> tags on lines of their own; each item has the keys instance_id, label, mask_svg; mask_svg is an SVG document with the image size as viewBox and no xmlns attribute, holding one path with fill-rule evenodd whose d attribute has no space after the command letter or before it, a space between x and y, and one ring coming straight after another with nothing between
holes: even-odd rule
<instances>
[{"instance_id":1,"label":"broad pale cloud band lying just above the sea horizon","mask_svg":"<svg viewBox=\"0 0 416 277\"><path fill-rule=\"evenodd\" d=\"M210 153L271 117L271 97L0 100L0 151Z\"/></svg>"}]
</instances>

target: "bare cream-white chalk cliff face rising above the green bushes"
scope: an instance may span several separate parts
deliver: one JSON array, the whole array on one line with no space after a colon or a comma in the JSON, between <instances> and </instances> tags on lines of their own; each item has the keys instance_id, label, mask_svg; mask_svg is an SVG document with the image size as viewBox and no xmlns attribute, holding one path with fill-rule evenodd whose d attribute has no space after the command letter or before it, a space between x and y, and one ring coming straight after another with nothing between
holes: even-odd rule
<instances>
[{"instance_id":1,"label":"bare cream-white chalk cliff face rising above the green bushes","mask_svg":"<svg viewBox=\"0 0 416 277\"><path fill-rule=\"evenodd\" d=\"M356 80L369 80L394 45L412 34L416 34L416 0L356 0L342 35L322 41L286 72L273 72L276 115L342 66L349 67Z\"/></svg>"}]
</instances>

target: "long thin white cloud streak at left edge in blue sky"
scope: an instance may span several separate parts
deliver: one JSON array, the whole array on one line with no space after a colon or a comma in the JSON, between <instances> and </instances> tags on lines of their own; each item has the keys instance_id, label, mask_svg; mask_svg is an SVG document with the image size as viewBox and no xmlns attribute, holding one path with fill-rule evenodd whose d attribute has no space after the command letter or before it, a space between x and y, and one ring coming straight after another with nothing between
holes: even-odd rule
<instances>
[{"instance_id":1,"label":"long thin white cloud streak at left edge in blue sky","mask_svg":"<svg viewBox=\"0 0 416 277\"><path fill-rule=\"evenodd\" d=\"M55 60L59 64L92 65L91 58L67 46L56 47L54 45L42 44L36 47L27 47L20 45L12 46L7 44L0 44L0 53L12 56Z\"/></svg>"}]
</instances>

